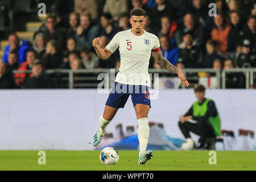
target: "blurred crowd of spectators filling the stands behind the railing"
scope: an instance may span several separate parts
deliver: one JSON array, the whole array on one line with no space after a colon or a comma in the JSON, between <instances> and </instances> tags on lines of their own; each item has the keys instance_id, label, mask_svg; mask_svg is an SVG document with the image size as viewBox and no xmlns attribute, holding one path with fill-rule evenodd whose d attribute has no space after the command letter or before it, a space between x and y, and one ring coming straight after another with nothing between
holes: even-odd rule
<instances>
[{"instance_id":1,"label":"blurred crowd of spectators filling the stands behind the railing","mask_svg":"<svg viewBox=\"0 0 256 182\"><path fill-rule=\"evenodd\" d=\"M46 18L33 42L9 35L0 88L56 88L46 69L118 69L118 50L100 60L92 40L100 37L105 48L117 32L129 30L135 7L146 10L144 29L158 36L163 56L180 69L256 67L255 0L58 0L55 16ZM152 57L150 68L160 69Z\"/></svg>"}]
</instances>

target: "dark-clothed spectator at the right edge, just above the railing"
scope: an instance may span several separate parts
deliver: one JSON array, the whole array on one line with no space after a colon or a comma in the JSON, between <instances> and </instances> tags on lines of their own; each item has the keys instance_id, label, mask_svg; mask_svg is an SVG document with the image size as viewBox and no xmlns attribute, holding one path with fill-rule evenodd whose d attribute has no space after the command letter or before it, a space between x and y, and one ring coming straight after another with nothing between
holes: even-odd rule
<instances>
[{"instance_id":1,"label":"dark-clothed spectator at the right edge, just above the railing","mask_svg":"<svg viewBox=\"0 0 256 182\"><path fill-rule=\"evenodd\" d=\"M237 59L237 66L240 68L256 67L256 52L250 52L250 40L243 40L242 53Z\"/></svg>"}]
</instances>

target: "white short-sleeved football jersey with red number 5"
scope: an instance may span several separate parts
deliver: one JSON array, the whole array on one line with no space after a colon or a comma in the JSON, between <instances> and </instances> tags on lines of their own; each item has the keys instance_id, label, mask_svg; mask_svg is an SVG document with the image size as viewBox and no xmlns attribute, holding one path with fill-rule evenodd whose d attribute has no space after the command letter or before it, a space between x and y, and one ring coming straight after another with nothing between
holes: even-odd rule
<instances>
[{"instance_id":1,"label":"white short-sleeved football jersey with red number 5","mask_svg":"<svg viewBox=\"0 0 256 182\"><path fill-rule=\"evenodd\" d=\"M150 86L148 65L151 52L160 51L157 36L144 30L136 36L130 30L118 32L106 48L114 52L119 47L120 68L115 81L128 85Z\"/></svg>"}]
</instances>

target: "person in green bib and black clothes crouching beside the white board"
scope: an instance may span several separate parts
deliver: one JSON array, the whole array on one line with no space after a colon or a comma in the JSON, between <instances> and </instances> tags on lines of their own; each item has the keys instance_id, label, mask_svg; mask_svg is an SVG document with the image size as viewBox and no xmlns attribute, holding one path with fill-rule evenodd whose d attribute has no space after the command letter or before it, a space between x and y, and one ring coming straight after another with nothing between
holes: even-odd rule
<instances>
[{"instance_id":1,"label":"person in green bib and black clothes crouching beside the white board","mask_svg":"<svg viewBox=\"0 0 256 182\"><path fill-rule=\"evenodd\" d=\"M221 119L214 101L205 98L205 87L195 85L195 95L198 101L194 102L187 113L180 117L179 127L186 142L182 144L183 150L191 150L195 145L190 131L200 136L200 149L214 149L216 137L221 136ZM190 122L191 120L195 122Z\"/></svg>"}]
</instances>

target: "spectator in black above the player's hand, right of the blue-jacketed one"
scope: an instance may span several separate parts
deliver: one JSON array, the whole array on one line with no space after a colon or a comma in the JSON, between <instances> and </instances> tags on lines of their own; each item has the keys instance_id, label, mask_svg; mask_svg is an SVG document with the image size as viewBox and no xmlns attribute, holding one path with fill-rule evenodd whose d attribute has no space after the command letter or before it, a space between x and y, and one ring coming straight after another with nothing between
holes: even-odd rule
<instances>
[{"instance_id":1,"label":"spectator in black above the player's hand, right of the blue-jacketed one","mask_svg":"<svg viewBox=\"0 0 256 182\"><path fill-rule=\"evenodd\" d=\"M203 60L203 52L199 47L193 46L193 36L190 32L183 35L184 47L180 47L179 57L186 68L200 68Z\"/></svg>"}]
</instances>

